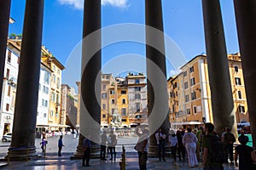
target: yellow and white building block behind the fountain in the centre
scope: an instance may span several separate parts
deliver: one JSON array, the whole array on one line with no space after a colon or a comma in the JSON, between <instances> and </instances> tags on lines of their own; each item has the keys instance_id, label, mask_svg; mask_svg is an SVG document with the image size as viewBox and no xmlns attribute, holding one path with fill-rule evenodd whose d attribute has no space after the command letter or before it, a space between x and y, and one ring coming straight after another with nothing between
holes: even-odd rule
<instances>
[{"instance_id":1,"label":"yellow and white building block behind the fountain in the centre","mask_svg":"<svg viewBox=\"0 0 256 170\"><path fill-rule=\"evenodd\" d=\"M147 119L146 77L140 73L127 77L102 74L102 127L114 124L131 127Z\"/></svg>"}]
</instances>

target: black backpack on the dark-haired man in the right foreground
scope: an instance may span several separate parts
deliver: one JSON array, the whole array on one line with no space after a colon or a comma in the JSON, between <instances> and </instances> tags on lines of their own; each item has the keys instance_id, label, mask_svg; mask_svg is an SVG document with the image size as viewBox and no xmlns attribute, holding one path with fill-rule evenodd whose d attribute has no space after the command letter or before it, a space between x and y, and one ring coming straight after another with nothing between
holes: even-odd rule
<instances>
[{"instance_id":1,"label":"black backpack on the dark-haired man in the right foreground","mask_svg":"<svg viewBox=\"0 0 256 170\"><path fill-rule=\"evenodd\" d=\"M218 136L216 135L214 136L206 135L206 136L211 138L211 150L210 150L210 154L212 158L211 161L223 164L226 161L224 143L221 142L220 139L218 139Z\"/></svg>"}]
</instances>

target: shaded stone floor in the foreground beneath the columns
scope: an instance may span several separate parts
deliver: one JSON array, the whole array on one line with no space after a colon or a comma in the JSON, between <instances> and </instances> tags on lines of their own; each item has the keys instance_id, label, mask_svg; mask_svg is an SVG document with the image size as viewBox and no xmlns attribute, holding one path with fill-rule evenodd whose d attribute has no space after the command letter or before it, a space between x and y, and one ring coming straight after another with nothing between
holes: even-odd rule
<instances>
[{"instance_id":1,"label":"shaded stone floor in the foreground beneath the columns","mask_svg":"<svg viewBox=\"0 0 256 170\"><path fill-rule=\"evenodd\" d=\"M126 158L126 170L137 170L139 169L137 163L137 155L132 153L131 156ZM98 159L90 160L91 167L82 167L81 160L70 160L70 156L66 155L62 157L48 156L37 161L11 161L9 165L2 167L1 169L26 169L26 170L76 170L76 169L90 169L90 170L117 170L120 169L119 161L120 156L117 156L116 161L100 161ZM148 170L164 170L164 169L178 169L178 170L202 170L201 164L199 167L189 168L188 162L182 161L173 162L172 158L166 158L166 162L158 161L158 158L148 158ZM225 165L225 170L238 170L234 165Z\"/></svg>"}]
</instances>

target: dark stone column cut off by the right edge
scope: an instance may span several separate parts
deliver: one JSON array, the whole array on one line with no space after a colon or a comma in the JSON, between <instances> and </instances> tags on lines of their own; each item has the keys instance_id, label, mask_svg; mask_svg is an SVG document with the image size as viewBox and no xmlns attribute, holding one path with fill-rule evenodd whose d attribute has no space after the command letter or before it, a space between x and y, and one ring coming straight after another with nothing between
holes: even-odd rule
<instances>
[{"instance_id":1,"label":"dark stone column cut off by the right edge","mask_svg":"<svg viewBox=\"0 0 256 170\"><path fill-rule=\"evenodd\" d=\"M253 147L256 147L256 1L234 0L236 27L241 52L241 65L245 82L248 114L253 135Z\"/></svg>"}]
</instances>

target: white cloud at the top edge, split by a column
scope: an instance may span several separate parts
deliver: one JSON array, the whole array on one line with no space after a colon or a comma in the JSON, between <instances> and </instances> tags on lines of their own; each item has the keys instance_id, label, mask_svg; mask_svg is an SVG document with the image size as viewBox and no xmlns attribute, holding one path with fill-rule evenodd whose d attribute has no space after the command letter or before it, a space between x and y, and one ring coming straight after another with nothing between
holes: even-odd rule
<instances>
[{"instance_id":1,"label":"white cloud at the top edge, split by a column","mask_svg":"<svg viewBox=\"0 0 256 170\"><path fill-rule=\"evenodd\" d=\"M117 8L128 8L129 0L102 0L102 5L110 5ZM58 0L62 5L71 5L74 8L83 9L84 0Z\"/></svg>"}]
</instances>

